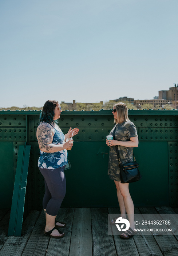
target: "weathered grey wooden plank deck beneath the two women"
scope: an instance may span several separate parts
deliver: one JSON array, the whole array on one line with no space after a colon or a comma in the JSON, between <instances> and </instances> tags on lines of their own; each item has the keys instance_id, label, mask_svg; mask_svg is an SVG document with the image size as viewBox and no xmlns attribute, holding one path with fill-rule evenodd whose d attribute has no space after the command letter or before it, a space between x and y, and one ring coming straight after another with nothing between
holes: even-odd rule
<instances>
[{"instance_id":1,"label":"weathered grey wooden plank deck beneath the two women","mask_svg":"<svg viewBox=\"0 0 178 256\"><path fill-rule=\"evenodd\" d=\"M22 226L22 236L7 236L9 210L0 210L0 256L178 256L178 236L137 234L128 240L108 235L108 214L118 208L61 208L57 219L66 222L65 236L43 234L43 211L32 211ZM178 208L135 208L135 214L177 214ZM173 219L174 221L174 219Z\"/></svg>"}]
</instances>

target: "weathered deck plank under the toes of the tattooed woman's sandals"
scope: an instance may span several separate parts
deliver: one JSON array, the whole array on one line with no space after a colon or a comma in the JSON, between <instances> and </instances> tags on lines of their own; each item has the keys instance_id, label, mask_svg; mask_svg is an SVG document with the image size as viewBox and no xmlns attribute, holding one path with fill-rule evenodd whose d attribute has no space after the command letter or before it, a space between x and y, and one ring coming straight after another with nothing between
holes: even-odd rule
<instances>
[{"instance_id":1,"label":"weathered deck plank under the toes of the tattooed woman's sandals","mask_svg":"<svg viewBox=\"0 0 178 256\"><path fill-rule=\"evenodd\" d=\"M66 223L67 226L61 229L61 231L65 233L65 236L60 239L50 238L46 256L51 256L51 255L68 256L69 255L73 218L74 218L74 208L60 209L56 219Z\"/></svg>"}]
</instances>

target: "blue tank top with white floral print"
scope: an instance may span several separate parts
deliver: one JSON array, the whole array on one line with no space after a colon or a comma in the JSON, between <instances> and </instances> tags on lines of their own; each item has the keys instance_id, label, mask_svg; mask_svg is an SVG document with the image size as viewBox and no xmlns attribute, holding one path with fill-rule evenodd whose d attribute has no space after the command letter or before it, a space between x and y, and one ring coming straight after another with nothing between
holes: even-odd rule
<instances>
[{"instance_id":1,"label":"blue tank top with white floral print","mask_svg":"<svg viewBox=\"0 0 178 256\"><path fill-rule=\"evenodd\" d=\"M53 127L54 128L54 127ZM54 128L55 129L55 128ZM64 133L55 129L55 134L52 140L53 144L62 144L64 142ZM38 159L38 167L45 169L56 169L67 165L67 150L61 150L54 153L47 153L40 150L40 157Z\"/></svg>"}]
</instances>

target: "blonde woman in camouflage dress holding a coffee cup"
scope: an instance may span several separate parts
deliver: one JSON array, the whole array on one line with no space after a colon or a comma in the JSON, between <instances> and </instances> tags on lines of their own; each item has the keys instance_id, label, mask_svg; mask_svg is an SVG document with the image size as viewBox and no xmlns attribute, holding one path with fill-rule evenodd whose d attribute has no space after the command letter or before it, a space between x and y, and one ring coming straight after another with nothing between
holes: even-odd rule
<instances>
[{"instance_id":1,"label":"blonde woman in camouflage dress holding a coffee cup","mask_svg":"<svg viewBox=\"0 0 178 256\"><path fill-rule=\"evenodd\" d=\"M120 169L115 146L118 145L122 163L133 162L133 147L138 147L138 135L135 125L128 119L128 109L124 103L116 103L113 106L112 114L116 125L110 132L110 135L113 135L115 130L115 140L106 140L107 146L110 147L108 175L116 185L120 216L126 217L126 212L128 215L130 228L120 235L121 238L128 239L135 234L134 204L128 189L129 183L120 183ZM115 224L115 219L111 222Z\"/></svg>"}]
</instances>

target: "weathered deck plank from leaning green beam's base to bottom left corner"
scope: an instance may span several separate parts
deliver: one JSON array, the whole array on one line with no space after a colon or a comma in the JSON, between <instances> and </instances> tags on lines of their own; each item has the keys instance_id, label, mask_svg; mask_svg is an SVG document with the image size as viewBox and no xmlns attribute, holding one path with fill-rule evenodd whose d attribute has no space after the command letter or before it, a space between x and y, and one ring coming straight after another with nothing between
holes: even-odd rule
<instances>
[{"instance_id":1,"label":"weathered deck plank from leaning green beam's base to bottom left corner","mask_svg":"<svg viewBox=\"0 0 178 256\"><path fill-rule=\"evenodd\" d=\"M32 233L33 227L39 217L39 211L32 211L25 219L22 226L22 236L9 236L0 255L3 256L20 256L27 244L28 238Z\"/></svg>"}]
</instances>

